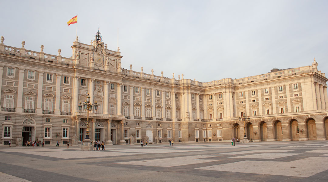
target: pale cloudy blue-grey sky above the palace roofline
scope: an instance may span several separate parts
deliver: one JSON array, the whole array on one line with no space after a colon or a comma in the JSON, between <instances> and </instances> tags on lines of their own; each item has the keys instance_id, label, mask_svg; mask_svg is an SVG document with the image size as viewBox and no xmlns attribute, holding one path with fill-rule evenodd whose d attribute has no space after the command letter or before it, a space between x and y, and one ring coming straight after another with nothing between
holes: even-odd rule
<instances>
[{"instance_id":1,"label":"pale cloudy blue-grey sky above the palace roofline","mask_svg":"<svg viewBox=\"0 0 328 182\"><path fill-rule=\"evenodd\" d=\"M5 45L72 56L98 31L123 68L210 82L312 65L328 71L328 1L5 1ZM78 15L78 23L66 23ZM119 27L117 43L117 27ZM328 74L328 73L327 73Z\"/></svg>"}]
</instances>

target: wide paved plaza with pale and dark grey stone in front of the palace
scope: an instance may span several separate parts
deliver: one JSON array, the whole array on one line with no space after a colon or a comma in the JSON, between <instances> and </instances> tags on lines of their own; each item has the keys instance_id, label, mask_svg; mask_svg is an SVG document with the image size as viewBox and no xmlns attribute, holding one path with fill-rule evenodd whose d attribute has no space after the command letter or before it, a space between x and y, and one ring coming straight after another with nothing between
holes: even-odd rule
<instances>
[{"instance_id":1,"label":"wide paved plaza with pale and dark grey stone in front of the palace","mask_svg":"<svg viewBox=\"0 0 328 182\"><path fill-rule=\"evenodd\" d=\"M0 181L328 181L328 141L1 147Z\"/></svg>"}]
</instances>

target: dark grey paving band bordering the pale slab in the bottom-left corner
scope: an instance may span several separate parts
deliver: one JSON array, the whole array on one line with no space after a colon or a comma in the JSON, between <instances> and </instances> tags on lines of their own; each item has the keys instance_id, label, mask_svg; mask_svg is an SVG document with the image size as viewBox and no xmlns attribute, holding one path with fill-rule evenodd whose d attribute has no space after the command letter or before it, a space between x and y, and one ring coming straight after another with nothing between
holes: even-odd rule
<instances>
[{"instance_id":1,"label":"dark grey paving band bordering the pale slab in the bottom-left corner","mask_svg":"<svg viewBox=\"0 0 328 182\"><path fill-rule=\"evenodd\" d=\"M94 180L78 178L59 173L51 173L48 171L41 171L32 168L26 168L22 166L6 164L0 162L0 171L12 176L16 176L22 179L26 179L32 182L58 182L58 181L82 181L93 182ZM95 181L94 181L95 182Z\"/></svg>"}]
</instances>

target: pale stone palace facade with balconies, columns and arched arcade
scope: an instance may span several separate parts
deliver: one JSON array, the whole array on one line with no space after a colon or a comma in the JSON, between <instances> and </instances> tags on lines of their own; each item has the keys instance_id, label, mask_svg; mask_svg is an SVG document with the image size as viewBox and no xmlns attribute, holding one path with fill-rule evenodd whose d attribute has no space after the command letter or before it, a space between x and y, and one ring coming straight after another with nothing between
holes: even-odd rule
<instances>
[{"instance_id":1,"label":"pale stone palace facade with balconies, columns and arched arcade","mask_svg":"<svg viewBox=\"0 0 328 182\"><path fill-rule=\"evenodd\" d=\"M0 146L328 139L328 81L318 63L241 79L198 82L121 68L100 32L72 57L0 43ZM90 96L97 103L81 109ZM81 104L80 104L81 102ZM245 113L249 120L239 121Z\"/></svg>"}]
</instances>

